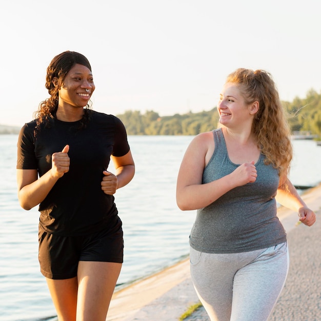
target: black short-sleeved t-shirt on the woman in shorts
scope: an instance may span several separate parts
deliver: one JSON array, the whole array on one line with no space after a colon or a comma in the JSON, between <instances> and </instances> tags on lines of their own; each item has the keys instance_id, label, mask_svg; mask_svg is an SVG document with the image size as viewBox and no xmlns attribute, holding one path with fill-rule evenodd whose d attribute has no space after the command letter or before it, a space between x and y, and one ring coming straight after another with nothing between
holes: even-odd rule
<instances>
[{"instance_id":1,"label":"black short-sleeved t-shirt on the woman in shorts","mask_svg":"<svg viewBox=\"0 0 321 321\"><path fill-rule=\"evenodd\" d=\"M69 171L59 178L39 205L40 224L59 235L84 235L121 226L114 196L101 189L110 155L129 151L123 123L113 115L90 112L86 128L79 122L50 119L34 135L36 122L21 129L17 144L17 169L37 169L39 176L51 168L51 155L68 144Z\"/></svg>"}]
</instances>

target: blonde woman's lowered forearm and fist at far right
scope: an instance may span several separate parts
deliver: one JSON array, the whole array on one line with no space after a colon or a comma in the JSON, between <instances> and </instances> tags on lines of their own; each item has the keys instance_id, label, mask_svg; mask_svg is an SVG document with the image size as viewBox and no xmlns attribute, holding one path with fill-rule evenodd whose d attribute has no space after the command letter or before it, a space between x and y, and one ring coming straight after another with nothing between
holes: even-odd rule
<instances>
[{"instance_id":1,"label":"blonde woman's lowered forearm and fist at far right","mask_svg":"<svg viewBox=\"0 0 321 321\"><path fill-rule=\"evenodd\" d=\"M315 213L308 208L288 178L283 185L278 187L275 199L279 204L297 212L300 221L305 225L314 224Z\"/></svg>"}]
</instances>

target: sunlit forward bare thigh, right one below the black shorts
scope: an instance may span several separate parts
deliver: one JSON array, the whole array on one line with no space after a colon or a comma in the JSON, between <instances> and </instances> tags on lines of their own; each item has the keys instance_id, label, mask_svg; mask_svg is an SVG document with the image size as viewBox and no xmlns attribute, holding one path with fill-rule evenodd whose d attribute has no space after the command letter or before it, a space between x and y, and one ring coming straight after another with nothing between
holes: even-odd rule
<instances>
[{"instance_id":1,"label":"sunlit forward bare thigh, right one below the black shorts","mask_svg":"<svg viewBox=\"0 0 321 321\"><path fill-rule=\"evenodd\" d=\"M106 320L121 268L121 263L79 262L77 321Z\"/></svg>"}]
</instances>

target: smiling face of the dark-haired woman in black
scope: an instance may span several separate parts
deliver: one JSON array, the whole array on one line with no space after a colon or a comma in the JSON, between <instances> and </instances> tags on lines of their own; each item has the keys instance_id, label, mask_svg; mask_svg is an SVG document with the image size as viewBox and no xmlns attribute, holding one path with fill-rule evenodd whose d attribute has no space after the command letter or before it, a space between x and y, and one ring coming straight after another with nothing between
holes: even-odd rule
<instances>
[{"instance_id":1,"label":"smiling face of the dark-haired woman in black","mask_svg":"<svg viewBox=\"0 0 321 321\"><path fill-rule=\"evenodd\" d=\"M58 79L54 78L53 83L58 86ZM75 64L67 73L64 83L59 92L59 107L83 108L95 90L93 76L86 66Z\"/></svg>"}]
</instances>

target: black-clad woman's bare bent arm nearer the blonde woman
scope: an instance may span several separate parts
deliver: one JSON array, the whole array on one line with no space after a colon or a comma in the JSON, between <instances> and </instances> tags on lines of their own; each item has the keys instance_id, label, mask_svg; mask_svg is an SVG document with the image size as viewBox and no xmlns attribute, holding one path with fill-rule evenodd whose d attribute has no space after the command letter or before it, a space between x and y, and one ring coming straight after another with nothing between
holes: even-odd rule
<instances>
[{"instance_id":1,"label":"black-clad woman's bare bent arm nearer the blonde woman","mask_svg":"<svg viewBox=\"0 0 321 321\"><path fill-rule=\"evenodd\" d=\"M111 156L114 163L115 174L104 171L104 177L102 180L102 190L108 195L115 194L118 188L122 188L127 185L135 174L135 164L129 151L126 155L121 157Z\"/></svg>"}]
</instances>

